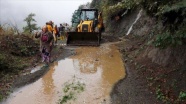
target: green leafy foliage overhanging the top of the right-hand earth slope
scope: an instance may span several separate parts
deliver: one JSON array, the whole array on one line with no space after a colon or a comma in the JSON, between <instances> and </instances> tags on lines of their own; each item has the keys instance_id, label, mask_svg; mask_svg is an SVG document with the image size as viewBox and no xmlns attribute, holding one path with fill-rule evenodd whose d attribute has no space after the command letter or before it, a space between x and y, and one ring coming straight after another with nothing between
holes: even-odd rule
<instances>
[{"instance_id":1,"label":"green leafy foliage overhanging the top of the right-hand earth slope","mask_svg":"<svg viewBox=\"0 0 186 104\"><path fill-rule=\"evenodd\" d=\"M111 19L125 11L143 8L149 16L162 23L153 44L159 48L185 44L186 40L186 0L93 0L91 6L103 11L107 27L112 28ZM128 13L128 12L127 12Z\"/></svg>"}]
</instances>

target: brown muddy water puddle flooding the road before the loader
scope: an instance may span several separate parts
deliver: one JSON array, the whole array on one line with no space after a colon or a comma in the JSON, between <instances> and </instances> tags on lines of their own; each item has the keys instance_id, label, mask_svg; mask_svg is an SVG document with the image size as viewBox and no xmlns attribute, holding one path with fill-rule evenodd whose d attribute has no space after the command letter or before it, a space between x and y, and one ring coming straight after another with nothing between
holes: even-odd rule
<instances>
[{"instance_id":1,"label":"brown muddy water puddle flooding the road before the loader","mask_svg":"<svg viewBox=\"0 0 186 104\"><path fill-rule=\"evenodd\" d=\"M16 89L5 104L56 104L64 95L64 83L73 77L85 84L85 90L71 104L109 103L113 85L125 76L117 47L80 47L76 55L50 65L50 70L36 82Z\"/></svg>"}]
</instances>

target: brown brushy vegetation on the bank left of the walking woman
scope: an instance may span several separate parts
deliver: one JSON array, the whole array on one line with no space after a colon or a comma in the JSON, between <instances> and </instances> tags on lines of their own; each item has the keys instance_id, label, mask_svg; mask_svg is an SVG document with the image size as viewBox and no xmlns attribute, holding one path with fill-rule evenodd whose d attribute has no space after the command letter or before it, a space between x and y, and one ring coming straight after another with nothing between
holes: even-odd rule
<instances>
[{"instance_id":1,"label":"brown brushy vegetation on the bank left of the walking woman","mask_svg":"<svg viewBox=\"0 0 186 104\"><path fill-rule=\"evenodd\" d=\"M34 15L33 15L34 16ZM33 17L28 16L32 21ZM28 17L25 19L29 23ZM28 21L29 20L29 21ZM31 24L30 29L35 29ZM27 31L21 33L17 26L0 24L0 101L9 95L13 80L27 67L36 62L39 52L39 41L33 39L33 34Z\"/></svg>"}]
</instances>

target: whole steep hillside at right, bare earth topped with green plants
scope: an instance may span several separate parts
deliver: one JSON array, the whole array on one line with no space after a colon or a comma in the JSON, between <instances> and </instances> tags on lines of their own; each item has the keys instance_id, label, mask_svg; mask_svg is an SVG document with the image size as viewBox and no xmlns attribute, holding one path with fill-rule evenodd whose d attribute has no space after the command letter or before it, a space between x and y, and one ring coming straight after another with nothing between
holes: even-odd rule
<instances>
[{"instance_id":1,"label":"whole steep hillside at right, bare earth topped with green plants","mask_svg":"<svg viewBox=\"0 0 186 104\"><path fill-rule=\"evenodd\" d=\"M93 0L91 8L103 12L109 34L125 39L120 46L124 61L143 76L156 98L163 103L186 103L186 1ZM140 9L144 13L136 29L126 36L123 21ZM141 32L144 26L148 30Z\"/></svg>"}]
</instances>

